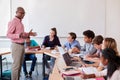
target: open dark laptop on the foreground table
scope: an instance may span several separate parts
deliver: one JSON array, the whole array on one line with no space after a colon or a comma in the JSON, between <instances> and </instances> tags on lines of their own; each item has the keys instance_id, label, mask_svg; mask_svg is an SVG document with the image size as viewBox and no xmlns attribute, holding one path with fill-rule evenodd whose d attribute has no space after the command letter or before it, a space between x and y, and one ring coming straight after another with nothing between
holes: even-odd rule
<instances>
[{"instance_id":1,"label":"open dark laptop on the foreground table","mask_svg":"<svg viewBox=\"0 0 120 80\"><path fill-rule=\"evenodd\" d=\"M75 67L81 67L82 66L79 62L72 61L69 53L63 54L63 59L64 59L67 66L75 66Z\"/></svg>"}]
</instances>

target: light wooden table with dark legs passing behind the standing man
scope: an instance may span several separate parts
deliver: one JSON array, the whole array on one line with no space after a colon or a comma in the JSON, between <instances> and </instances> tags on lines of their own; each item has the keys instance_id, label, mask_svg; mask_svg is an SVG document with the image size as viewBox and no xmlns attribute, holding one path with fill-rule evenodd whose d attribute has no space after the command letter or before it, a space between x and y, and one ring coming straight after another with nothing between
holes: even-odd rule
<instances>
[{"instance_id":1,"label":"light wooden table with dark legs passing behind the standing man","mask_svg":"<svg viewBox=\"0 0 120 80\"><path fill-rule=\"evenodd\" d=\"M10 48L0 48L0 79L2 78L2 55L6 55L6 54L10 54ZM31 53L35 53L35 54L46 54L49 55L51 57L57 58L57 54L52 54L51 50L48 49L43 49L43 50L39 50L39 51L31 51L31 50L25 50L26 54L31 54ZM44 55L43 54L43 55ZM45 77L45 64L44 64L44 57L43 57L43 76Z\"/></svg>"}]
</instances>

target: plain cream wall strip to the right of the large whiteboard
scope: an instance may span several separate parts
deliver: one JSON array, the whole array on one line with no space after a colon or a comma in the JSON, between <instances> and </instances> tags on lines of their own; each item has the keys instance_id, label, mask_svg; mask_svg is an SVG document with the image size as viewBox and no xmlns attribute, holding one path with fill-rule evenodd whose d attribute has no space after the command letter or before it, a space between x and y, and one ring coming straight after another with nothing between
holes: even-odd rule
<instances>
[{"instance_id":1,"label":"plain cream wall strip to the right of the large whiteboard","mask_svg":"<svg viewBox=\"0 0 120 80\"><path fill-rule=\"evenodd\" d=\"M120 51L120 0L106 0L106 36L115 38Z\"/></svg>"}]
</instances>

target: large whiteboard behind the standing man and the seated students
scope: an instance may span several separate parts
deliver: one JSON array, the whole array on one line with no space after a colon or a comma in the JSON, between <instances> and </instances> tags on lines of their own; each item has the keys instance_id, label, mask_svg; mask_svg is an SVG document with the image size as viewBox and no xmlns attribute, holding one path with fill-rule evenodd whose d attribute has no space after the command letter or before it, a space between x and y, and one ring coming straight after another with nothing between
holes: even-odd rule
<instances>
[{"instance_id":1,"label":"large whiteboard behind the standing man and the seated students","mask_svg":"<svg viewBox=\"0 0 120 80\"><path fill-rule=\"evenodd\" d=\"M25 30L33 29L39 37L56 27L58 36L69 32L82 36L91 29L105 35L105 0L12 0L12 17L18 6L25 8Z\"/></svg>"}]
</instances>

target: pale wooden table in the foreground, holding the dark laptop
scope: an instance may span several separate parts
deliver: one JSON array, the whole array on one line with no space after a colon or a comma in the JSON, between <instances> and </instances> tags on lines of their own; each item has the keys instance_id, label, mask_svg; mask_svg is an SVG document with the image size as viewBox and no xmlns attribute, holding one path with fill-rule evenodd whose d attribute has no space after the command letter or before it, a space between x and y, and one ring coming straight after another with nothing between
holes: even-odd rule
<instances>
[{"instance_id":1,"label":"pale wooden table in the foreground, holding the dark laptop","mask_svg":"<svg viewBox=\"0 0 120 80\"><path fill-rule=\"evenodd\" d=\"M49 80L69 80L69 79L64 79L60 73L63 71L63 68L66 68L66 67L68 67L68 66L66 66L62 55L60 55L55 61L55 65L54 65L52 73L50 74ZM95 78L81 79L80 75L71 76L70 79L72 79L72 80L96 80Z\"/></svg>"}]
</instances>

